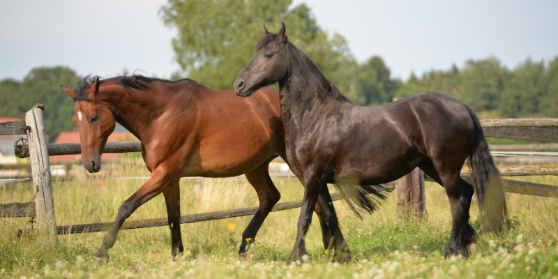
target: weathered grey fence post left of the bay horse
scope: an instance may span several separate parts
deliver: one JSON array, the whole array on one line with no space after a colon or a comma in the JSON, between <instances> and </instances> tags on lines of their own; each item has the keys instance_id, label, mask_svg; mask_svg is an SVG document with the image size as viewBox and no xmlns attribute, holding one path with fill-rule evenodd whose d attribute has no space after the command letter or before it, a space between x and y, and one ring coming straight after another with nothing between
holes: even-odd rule
<instances>
[{"instance_id":1,"label":"weathered grey fence post left of the bay horse","mask_svg":"<svg viewBox=\"0 0 558 279\"><path fill-rule=\"evenodd\" d=\"M25 124L29 127L26 127L27 141L29 142L29 159L33 174L33 193L39 236L45 243L50 240L57 243L56 216L43 110L45 110L43 104L35 105L25 114Z\"/></svg>"}]
</instances>

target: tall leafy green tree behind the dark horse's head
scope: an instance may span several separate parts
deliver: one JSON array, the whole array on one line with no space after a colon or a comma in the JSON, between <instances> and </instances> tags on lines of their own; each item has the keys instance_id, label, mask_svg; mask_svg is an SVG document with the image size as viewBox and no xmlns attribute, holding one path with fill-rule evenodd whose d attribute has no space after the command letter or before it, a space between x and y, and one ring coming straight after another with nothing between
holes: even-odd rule
<instances>
[{"instance_id":1,"label":"tall leafy green tree behind the dark horse's head","mask_svg":"<svg viewBox=\"0 0 558 279\"><path fill-rule=\"evenodd\" d=\"M236 75L255 54L263 26L277 32L285 22L289 40L342 92L354 95L356 79L346 79L339 71L354 64L345 39L338 34L329 38L305 4L290 5L290 0L169 0L160 15L168 27L178 29L172 46L184 73L213 89L232 89Z\"/></svg>"}]
</instances>

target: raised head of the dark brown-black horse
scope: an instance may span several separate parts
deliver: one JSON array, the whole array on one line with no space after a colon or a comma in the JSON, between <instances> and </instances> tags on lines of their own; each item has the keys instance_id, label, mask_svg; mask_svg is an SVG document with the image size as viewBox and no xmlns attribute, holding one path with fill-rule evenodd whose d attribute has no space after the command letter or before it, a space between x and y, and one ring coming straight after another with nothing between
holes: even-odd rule
<instances>
[{"instance_id":1,"label":"raised head of the dark brown-black horse","mask_svg":"<svg viewBox=\"0 0 558 279\"><path fill-rule=\"evenodd\" d=\"M289 71L285 24L282 24L277 34L269 33L267 29L265 31L265 35L257 42L256 56L234 81L234 92L238 96L248 97L263 86L279 82Z\"/></svg>"}]
</instances>

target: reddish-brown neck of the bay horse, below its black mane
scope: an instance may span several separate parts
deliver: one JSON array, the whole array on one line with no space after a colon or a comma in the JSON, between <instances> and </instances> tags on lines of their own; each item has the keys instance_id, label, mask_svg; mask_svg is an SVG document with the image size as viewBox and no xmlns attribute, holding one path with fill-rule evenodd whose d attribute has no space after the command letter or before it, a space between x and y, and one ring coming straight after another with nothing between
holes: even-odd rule
<instances>
[{"instance_id":1,"label":"reddish-brown neck of the bay horse, below its black mane","mask_svg":"<svg viewBox=\"0 0 558 279\"><path fill-rule=\"evenodd\" d=\"M151 91L149 87L129 89L130 93L120 84L111 85L104 90L101 87L100 100L107 105L116 122L142 140L142 132L156 118L163 98L157 98L158 93Z\"/></svg>"}]
</instances>

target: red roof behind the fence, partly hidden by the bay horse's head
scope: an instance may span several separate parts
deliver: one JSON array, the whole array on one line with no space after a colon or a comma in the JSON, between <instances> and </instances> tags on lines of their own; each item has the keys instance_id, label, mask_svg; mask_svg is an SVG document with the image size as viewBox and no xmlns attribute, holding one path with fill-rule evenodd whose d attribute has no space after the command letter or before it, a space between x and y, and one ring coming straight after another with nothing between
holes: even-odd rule
<instances>
[{"instance_id":1,"label":"red roof behind the fence, partly hidden by the bay horse's head","mask_svg":"<svg viewBox=\"0 0 558 279\"><path fill-rule=\"evenodd\" d=\"M124 139L130 139L136 141L137 138L128 132L113 132L107 142L119 142ZM61 132L58 137L56 137L55 144L69 144L73 142L80 142L79 132ZM103 153L100 156L101 160L115 159L118 156L116 153ZM59 155L59 156L49 156L50 163L60 163L60 162L72 162L77 161L81 163L82 155Z\"/></svg>"}]
</instances>

